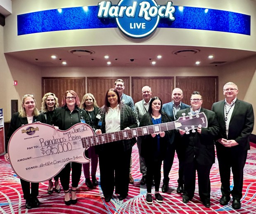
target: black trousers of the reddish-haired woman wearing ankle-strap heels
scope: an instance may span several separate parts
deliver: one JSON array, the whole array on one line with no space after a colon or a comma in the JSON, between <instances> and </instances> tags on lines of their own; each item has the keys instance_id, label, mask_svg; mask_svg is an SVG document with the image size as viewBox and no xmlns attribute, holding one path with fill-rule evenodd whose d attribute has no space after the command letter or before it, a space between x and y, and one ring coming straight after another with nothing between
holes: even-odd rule
<instances>
[{"instance_id":1,"label":"black trousers of the reddish-haired woman wearing ankle-strap heels","mask_svg":"<svg viewBox=\"0 0 256 214\"><path fill-rule=\"evenodd\" d=\"M78 187L78 183L81 178L82 164L76 163L76 162L68 163L59 173L60 182L62 184L64 191L69 190L71 168L72 168L72 174L71 174L72 184L71 184L71 186Z\"/></svg>"}]
</instances>

